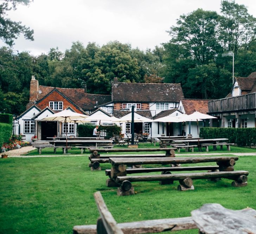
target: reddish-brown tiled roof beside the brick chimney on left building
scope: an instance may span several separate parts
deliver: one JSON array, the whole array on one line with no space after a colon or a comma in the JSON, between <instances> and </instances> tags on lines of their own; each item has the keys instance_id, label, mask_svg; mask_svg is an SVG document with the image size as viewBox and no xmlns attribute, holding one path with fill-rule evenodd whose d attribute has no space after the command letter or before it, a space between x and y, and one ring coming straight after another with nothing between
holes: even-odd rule
<instances>
[{"instance_id":1,"label":"reddish-brown tiled roof beside the brick chimney on left building","mask_svg":"<svg viewBox=\"0 0 256 234\"><path fill-rule=\"evenodd\" d=\"M39 99L45 97L49 92L51 92L55 87L49 86L39 86L41 94L39 94ZM84 89L65 89L56 88L59 92L63 93L66 97L70 98L75 104L79 105L83 110L94 110L97 105L102 105L104 103L111 101L111 95L98 95L85 93Z\"/></svg>"}]
</instances>

